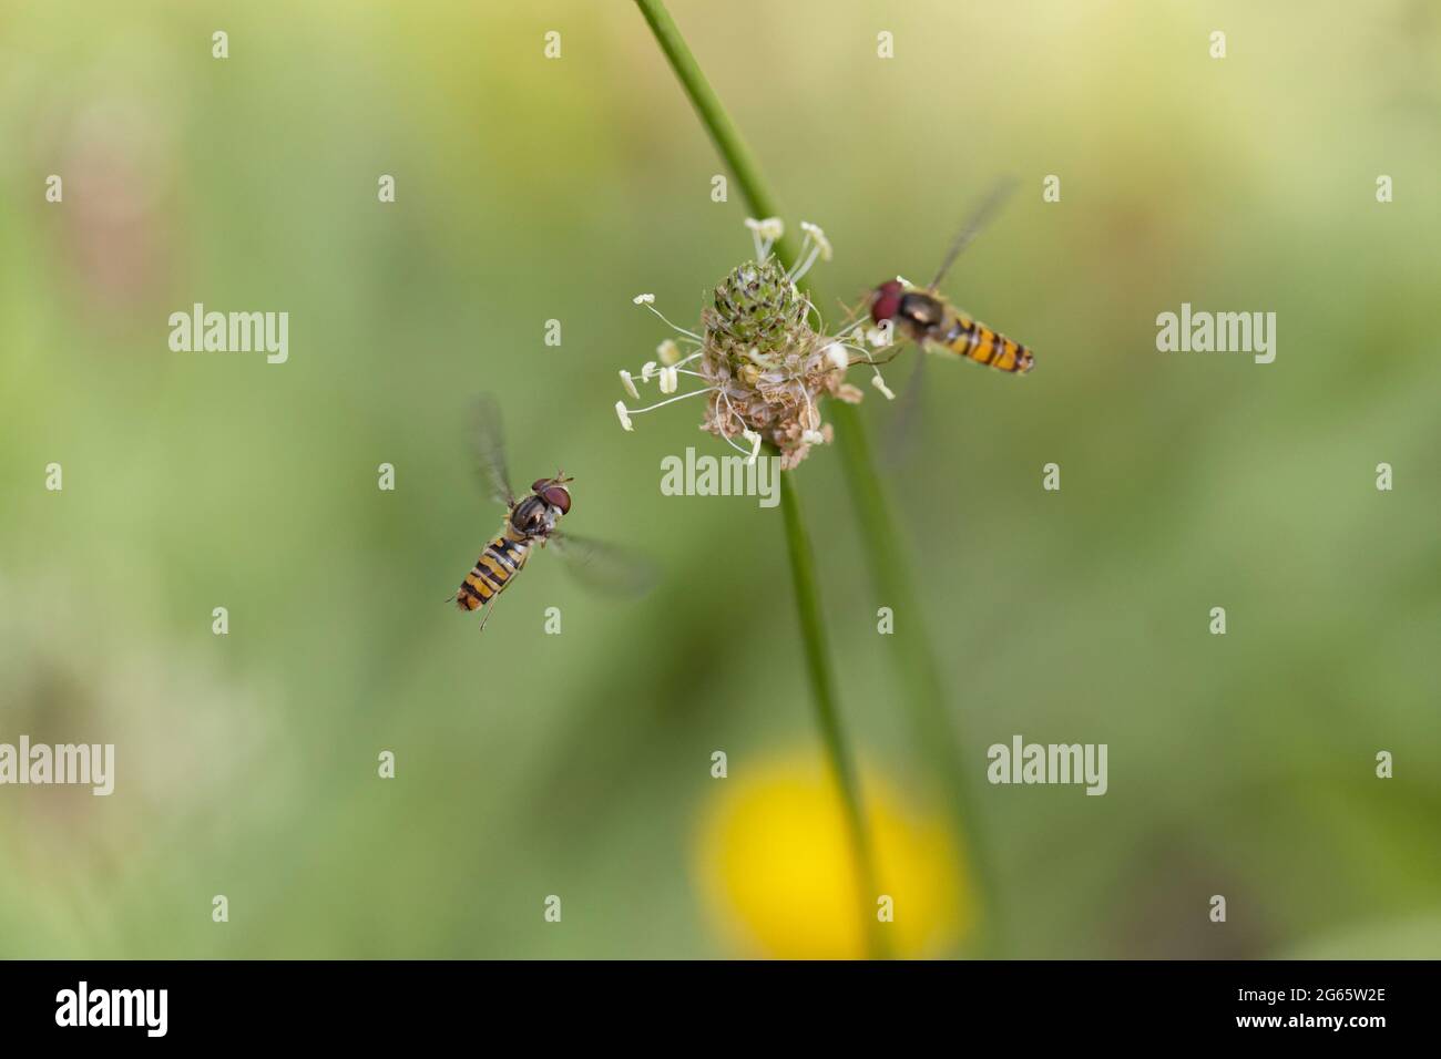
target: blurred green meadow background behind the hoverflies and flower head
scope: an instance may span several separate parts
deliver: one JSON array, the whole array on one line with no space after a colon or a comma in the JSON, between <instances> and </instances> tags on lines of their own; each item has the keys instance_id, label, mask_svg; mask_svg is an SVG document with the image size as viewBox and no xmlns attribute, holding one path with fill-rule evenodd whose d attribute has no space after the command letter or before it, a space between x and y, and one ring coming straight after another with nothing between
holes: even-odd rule
<instances>
[{"instance_id":1,"label":"blurred green meadow background behind the hoverflies and flower head","mask_svg":"<svg viewBox=\"0 0 1441 1059\"><path fill-rule=\"evenodd\" d=\"M1104 798L983 790L1007 952L1441 955L1437 6L672 13L836 245L831 316L1022 179L947 292L1036 370L928 365L904 540L859 539L834 451L797 471L867 768L925 803L863 548L916 571L976 778L1014 733L1110 745ZM736 954L697 821L816 735L780 513L660 494L723 451L699 406L612 411L666 337L631 297L693 324L751 252L634 7L6 0L0 144L0 742L118 745L110 798L0 788L0 955ZM195 301L288 311L290 362L171 353ZM1275 311L1275 363L1159 353L1183 301ZM568 526L660 589L542 553L483 637L442 604L500 517L486 389L514 478L574 473Z\"/></svg>"}]
</instances>

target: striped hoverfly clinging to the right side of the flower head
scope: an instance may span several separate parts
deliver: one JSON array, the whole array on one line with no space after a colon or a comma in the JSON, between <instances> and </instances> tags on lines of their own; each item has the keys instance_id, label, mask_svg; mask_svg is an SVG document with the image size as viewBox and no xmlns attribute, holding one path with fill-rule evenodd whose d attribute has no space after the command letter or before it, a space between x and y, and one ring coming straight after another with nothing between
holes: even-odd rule
<instances>
[{"instance_id":1,"label":"striped hoverfly clinging to the right side of the flower head","mask_svg":"<svg viewBox=\"0 0 1441 1059\"><path fill-rule=\"evenodd\" d=\"M1003 372L1025 373L1032 369L1035 357L1029 349L965 316L937 292L961 251L980 235L1012 187L1010 182L999 184L961 225L929 287L889 280L870 292L870 318L876 326L889 323L922 350L950 350Z\"/></svg>"}]
</instances>

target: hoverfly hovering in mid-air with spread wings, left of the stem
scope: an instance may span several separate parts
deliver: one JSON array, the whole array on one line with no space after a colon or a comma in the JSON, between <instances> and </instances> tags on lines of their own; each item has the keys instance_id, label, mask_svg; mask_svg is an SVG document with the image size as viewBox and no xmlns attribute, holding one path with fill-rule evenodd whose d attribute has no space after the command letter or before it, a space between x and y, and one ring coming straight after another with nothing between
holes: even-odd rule
<instances>
[{"instance_id":1,"label":"hoverfly hovering in mid-air with spread wings, left of the stem","mask_svg":"<svg viewBox=\"0 0 1441 1059\"><path fill-rule=\"evenodd\" d=\"M500 532L486 545L470 573L455 589L454 602L463 611L484 608L481 630L490 621L496 599L525 569L530 549L555 545L579 581L607 592L638 594L650 586L653 572L640 556L608 545L561 533L556 523L571 511L571 483L563 471L536 478L529 496L516 499L506 467L506 437L496 402L476 401L476 455L483 484L506 506Z\"/></svg>"}]
</instances>

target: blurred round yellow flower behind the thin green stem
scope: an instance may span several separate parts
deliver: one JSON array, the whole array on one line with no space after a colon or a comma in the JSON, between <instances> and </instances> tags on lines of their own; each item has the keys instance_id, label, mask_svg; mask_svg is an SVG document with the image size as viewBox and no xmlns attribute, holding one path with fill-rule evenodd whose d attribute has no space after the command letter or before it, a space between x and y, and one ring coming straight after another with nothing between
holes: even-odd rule
<instances>
[{"instance_id":1,"label":"blurred round yellow flower behind the thin green stem","mask_svg":"<svg viewBox=\"0 0 1441 1059\"><path fill-rule=\"evenodd\" d=\"M866 955L860 896L840 794L814 755L713 781L699 828L697 875L712 915L738 951L781 960ZM882 929L896 957L944 957L964 937L974 902L938 814L906 804L883 778L863 778ZM872 915L876 912L872 911Z\"/></svg>"}]
</instances>

